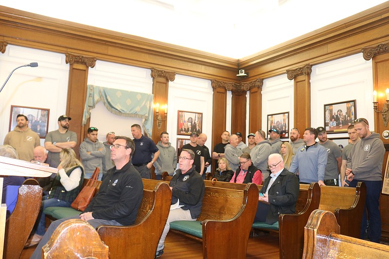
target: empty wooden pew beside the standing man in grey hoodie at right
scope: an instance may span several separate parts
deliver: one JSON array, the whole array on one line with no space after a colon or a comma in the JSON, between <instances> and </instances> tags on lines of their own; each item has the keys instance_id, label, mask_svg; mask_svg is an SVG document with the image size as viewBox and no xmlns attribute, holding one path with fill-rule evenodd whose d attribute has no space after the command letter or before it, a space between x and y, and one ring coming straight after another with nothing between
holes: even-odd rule
<instances>
[{"instance_id":1,"label":"empty wooden pew beside the standing man in grey hoodie at right","mask_svg":"<svg viewBox=\"0 0 389 259\"><path fill-rule=\"evenodd\" d=\"M318 209L335 214L340 234L359 238L365 202L366 185L363 182L358 182L356 188L321 186Z\"/></svg>"}]
</instances>

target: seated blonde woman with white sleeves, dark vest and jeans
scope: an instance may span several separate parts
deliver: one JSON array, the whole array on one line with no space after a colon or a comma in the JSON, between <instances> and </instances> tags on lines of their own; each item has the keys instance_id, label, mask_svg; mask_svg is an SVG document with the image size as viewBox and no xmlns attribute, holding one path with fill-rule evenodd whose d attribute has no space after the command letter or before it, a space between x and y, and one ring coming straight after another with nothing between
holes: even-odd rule
<instances>
[{"instance_id":1,"label":"seated blonde woman with white sleeves, dark vest and jeans","mask_svg":"<svg viewBox=\"0 0 389 259\"><path fill-rule=\"evenodd\" d=\"M70 207L77 197L84 181L84 167L71 148L65 148L59 153L60 164L55 175L49 195L42 197L37 227L31 241L25 246L33 246L40 242L45 234L45 214L47 207Z\"/></svg>"}]
</instances>

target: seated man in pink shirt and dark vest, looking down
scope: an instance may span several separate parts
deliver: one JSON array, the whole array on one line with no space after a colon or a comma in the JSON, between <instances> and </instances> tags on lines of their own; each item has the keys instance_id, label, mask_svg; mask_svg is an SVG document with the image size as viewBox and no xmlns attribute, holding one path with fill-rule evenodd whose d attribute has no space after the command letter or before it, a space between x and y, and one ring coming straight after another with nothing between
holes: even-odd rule
<instances>
[{"instance_id":1,"label":"seated man in pink shirt and dark vest, looking down","mask_svg":"<svg viewBox=\"0 0 389 259\"><path fill-rule=\"evenodd\" d=\"M239 159L240 167L235 171L232 176L230 183L255 183L262 184L262 173L261 170L256 168L251 163L251 157L248 153L243 153Z\"/></svg>"}]
</instances>

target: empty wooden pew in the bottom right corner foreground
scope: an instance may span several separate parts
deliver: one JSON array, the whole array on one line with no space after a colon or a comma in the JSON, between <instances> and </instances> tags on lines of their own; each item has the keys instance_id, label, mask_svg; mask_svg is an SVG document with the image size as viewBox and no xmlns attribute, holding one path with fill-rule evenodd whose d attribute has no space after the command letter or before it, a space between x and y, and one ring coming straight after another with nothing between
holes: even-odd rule
<instances>
[{"instance_id":1,"label":"empty wooden pew in the bottom right corner foreground","mask_svg":"<svg viewBox=\"0 0 389 259\"><path fill-rule=\"evenodd\" d=\"M388 245L345 236L339 234L340 230L332 212L319 209L312 212L304 229L302 258L389 258Z\"/></svg>"}]
</instances>

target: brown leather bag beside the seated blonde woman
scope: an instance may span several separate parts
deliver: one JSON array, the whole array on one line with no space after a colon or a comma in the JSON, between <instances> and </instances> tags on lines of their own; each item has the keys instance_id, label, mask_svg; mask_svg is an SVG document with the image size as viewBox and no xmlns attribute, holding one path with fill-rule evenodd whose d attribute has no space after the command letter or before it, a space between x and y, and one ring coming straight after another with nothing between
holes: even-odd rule
<instances>
[{"instance_id":1,"label":"brown leather bag beside the seated blonde woman","mask_svg":"<svg viewBox=\"0 0 389 259\"><path fill-rule=\"evenodd\" d=\"M71 203L71 207L84 211L88 207L90 200L93 198L93 195L96 191L97 179L99 177L100 169L96 167L92 176L88 180L88 183L84 188L78 193L75 200Z\"/></svg>"}]
</instances>

